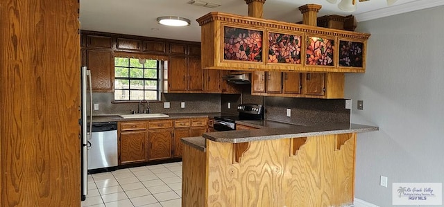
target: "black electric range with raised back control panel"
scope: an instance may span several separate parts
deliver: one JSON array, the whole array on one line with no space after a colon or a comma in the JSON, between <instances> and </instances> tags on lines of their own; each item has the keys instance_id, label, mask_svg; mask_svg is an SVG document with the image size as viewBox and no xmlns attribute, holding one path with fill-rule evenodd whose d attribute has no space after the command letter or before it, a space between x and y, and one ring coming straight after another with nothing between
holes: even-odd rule
<instances>
[{"instance_id":1,"label":"black electric range with raised back control panel","mask_svg":"<svg viewBox=\"0 0 444 207\"><path fill-rule=\"evenodd\" d=\"M214 116L214 130L218 132L236 130L237 120L264 119L264 106L241 104L237 107L238 116Z\"/></svg>"}]
</instances>

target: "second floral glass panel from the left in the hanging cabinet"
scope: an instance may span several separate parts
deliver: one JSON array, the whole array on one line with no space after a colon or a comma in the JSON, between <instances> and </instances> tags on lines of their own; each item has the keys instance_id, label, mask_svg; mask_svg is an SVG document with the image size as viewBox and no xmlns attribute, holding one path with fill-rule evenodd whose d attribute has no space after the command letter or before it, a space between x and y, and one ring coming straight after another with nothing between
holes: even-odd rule
<instances>
[{"instance_id":1,"label":"second floral glass panel from the left in the hanging cabinet","mask_svg":"<svg viewBox=\"0 0 444 207\"><path fill-rule=\"evenodd\" d=\"M300 64L300 35L269 33L268 62Z\"/></svg>"}]
</instances>

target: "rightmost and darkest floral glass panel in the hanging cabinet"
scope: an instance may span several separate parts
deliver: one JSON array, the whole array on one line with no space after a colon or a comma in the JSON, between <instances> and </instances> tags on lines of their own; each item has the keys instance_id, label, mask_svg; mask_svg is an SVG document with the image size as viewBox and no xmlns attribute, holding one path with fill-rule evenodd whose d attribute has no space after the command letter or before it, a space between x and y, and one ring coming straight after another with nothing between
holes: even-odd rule
<instances>
[{"instance_id":1,"label":"rightmost and darkest floral glass panel in the hanging cabinet","mask_svg":"<svg viewBox=\"0 0 444 207\"><path fill-rule=\"evenodd\" d=\"M362 42L339 41L339 66L362 67Z\"/></svg>"}]
</instances>

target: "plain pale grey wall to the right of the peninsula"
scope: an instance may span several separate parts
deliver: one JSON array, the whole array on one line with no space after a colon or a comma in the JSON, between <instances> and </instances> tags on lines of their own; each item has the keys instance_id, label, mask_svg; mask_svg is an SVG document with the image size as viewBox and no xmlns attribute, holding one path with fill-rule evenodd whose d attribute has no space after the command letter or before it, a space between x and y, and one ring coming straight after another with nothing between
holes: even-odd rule
<instances>
[{"instance_id":1,"label":"plain pale grey wall to the right of the peninsula","mask_svg":"<svg viewBox=\"0 0 444 207\"><path fill-rule=\"evenodd\" d=\"M441 6L358 24L371 34L367 69L345 76L345 98L352 123L379 126L357 138L358 199L392 206L393 182L444 182L443 14Z\"/></svg>"}]
</instances>

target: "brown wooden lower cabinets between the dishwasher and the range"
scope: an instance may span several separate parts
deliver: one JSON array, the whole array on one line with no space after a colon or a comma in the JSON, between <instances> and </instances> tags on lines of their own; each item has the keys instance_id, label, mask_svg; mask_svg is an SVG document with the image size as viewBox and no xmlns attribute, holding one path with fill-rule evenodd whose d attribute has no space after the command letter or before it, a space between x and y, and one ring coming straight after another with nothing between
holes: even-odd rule
<instances>
[{"instance_id":1,"label":"brown wooden lower cabinets between the dishwasher and the range","mask_svg":"<svg viewBox=\"0 0 444 207\"><path fill-rule=\"evenodd\" d=\"M202 136L207 118L119 122L119 165L182 157L180 138Z\"/></svg>"}]
</instances>

